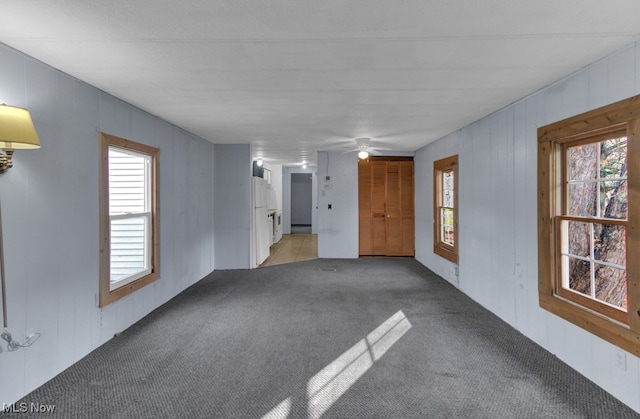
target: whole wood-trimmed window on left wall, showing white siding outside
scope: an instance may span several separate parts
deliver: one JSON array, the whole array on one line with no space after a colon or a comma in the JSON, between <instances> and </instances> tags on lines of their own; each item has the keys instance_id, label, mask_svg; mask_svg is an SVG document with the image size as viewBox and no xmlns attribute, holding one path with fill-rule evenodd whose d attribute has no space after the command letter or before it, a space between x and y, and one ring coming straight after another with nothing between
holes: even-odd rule
<instances>
[{"instance_id":1,"label":"whole wood-trimmed window on left wall, showing white siding outside","mask_svg":"<svg viewBox=\"0 0 640 419\"><path fill-rule=\"evenodd\" d=\"M100 307L160 277L160 150L100 133Z\"/></svg>"}]
</instances>

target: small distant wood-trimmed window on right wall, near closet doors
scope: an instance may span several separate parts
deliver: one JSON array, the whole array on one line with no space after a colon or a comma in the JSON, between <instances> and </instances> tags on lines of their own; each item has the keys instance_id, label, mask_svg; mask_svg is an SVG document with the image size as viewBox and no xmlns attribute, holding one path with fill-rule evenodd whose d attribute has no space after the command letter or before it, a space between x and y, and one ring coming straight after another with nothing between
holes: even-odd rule
<instances>
[{"instance_id":1,"label":"small distant wood-trimmed window on right wall, near closet doors","mask_svg":"<svg viewBox=\"0 0 640 419\"><path fill-rule=\"evenodd\" d=\"M433 162L433 251L458 263L458 156Z\"/></svg>"}]
</instances>

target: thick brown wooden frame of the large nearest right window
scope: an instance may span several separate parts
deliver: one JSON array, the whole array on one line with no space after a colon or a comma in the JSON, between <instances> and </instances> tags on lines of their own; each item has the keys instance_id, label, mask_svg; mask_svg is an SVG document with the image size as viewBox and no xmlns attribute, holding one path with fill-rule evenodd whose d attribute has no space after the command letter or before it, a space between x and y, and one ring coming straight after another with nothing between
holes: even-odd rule
<instances>
[{"instance_id":1,"label":"thick brown wooden frame of the large nearest right window","mask_svg":"<svg viewBox=\"0 0 640 419\"><path fill-rule=\"evenodd\" d=\"M594 141L612 132L627 135L627 312L566 298L558 289L564 144ZM538 129L538 294L542 308L640 355L640 95ZM609 221L609 220L608 220ZM634 257L636 255L636 257Z\"/></svg>"}]
</instances>

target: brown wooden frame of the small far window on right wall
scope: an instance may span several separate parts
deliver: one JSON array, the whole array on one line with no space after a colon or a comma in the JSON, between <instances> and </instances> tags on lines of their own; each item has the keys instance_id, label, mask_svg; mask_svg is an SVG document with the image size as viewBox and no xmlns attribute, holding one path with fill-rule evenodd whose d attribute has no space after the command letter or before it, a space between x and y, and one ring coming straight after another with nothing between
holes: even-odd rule
<instances>
[{"instance_id":1,"label":"brown wooden frame of the small far window on right wall","mask_svg":"<svg viewBox=\"0 0 640 419\"><path fill-rule=\"evenodd\" d=\"M441 240L440 210L442 209L442 179L453 172L453 246ZM433 162L433 252L458 263L458 155Z\"/></svg>"}]
</instances>

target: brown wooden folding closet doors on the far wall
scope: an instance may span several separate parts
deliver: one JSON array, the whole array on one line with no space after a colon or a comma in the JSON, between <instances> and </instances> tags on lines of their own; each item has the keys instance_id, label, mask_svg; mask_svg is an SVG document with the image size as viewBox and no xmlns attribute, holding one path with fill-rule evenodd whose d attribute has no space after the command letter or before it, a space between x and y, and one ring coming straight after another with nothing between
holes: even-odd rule
<instances>
[{"instance_id":1,"label":"brown wooden folding closet doors on the far wall","mask_svg":"<svg viewBox=\"0 0 640 419\"><path fill-rule=\"evenodd\" d=\"M360 255L413 256L413 160L358 163Z\"/></svg>"}]
</instances>

